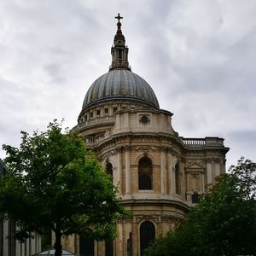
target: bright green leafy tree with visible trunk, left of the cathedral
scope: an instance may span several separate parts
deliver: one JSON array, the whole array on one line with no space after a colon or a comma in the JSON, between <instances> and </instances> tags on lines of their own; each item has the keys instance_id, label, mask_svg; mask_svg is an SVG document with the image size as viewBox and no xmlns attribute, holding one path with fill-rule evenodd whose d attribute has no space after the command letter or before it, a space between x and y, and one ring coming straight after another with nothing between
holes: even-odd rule
<instances>
[{"instance_id":1,"label":"bright green leafy tree with visible trunk, left of the cathedral","mask_svg":"<svg viewBox=\"0 0 256 256\"><path fill-rule=\"evenodd\" d=\"M55 256L61 255L61 236L74 233L96 240L113 238L115 221L126 214L117 188L83 140L61 125L32 136L21 131L20 148L3 145L9 173L0 179L0 212L15 220L16 238L32 231L55 233Z\"/></svg>"}]
</instances>

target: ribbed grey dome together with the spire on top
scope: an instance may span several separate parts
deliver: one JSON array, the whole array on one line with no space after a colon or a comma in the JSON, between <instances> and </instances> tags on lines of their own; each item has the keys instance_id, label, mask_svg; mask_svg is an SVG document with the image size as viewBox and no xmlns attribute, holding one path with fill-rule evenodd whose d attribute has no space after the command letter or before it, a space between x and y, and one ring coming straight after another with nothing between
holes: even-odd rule
<instances>
[{"instance_id":1,"label":"ribbed grey dome together with the spire on top","mask_svg":"<svg viewBox=\"0 0 256 256\"><path fill-rule=\"evenodd\" d=\"M121 17L119 17L121 18ZM109 72L103 74L90 86L84 97L82 111L100 102L115 100L140 102L159 109L159 102L150 85L136 73L131 72L128 62L128 47L121 31L121 23L114 36L111 49L112 64Z\"/></svg>"}]
</instances>

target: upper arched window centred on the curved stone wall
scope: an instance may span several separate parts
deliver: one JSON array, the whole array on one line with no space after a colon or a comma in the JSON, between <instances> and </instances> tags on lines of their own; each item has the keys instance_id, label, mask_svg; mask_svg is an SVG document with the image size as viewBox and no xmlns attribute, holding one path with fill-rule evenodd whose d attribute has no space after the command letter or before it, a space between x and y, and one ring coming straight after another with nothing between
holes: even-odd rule
<instances>
[{"instance_id":1,"label":"upper arched window centred on the curved stone wall","mask_svg":"<svg viewBox=\"0 0 256 256\"><path fill-rule=\"evenodd\" d=\"M152 189L152 162L151 160L144 156L139 160L138 166L138 182L140 190Z\"/></svg>"}]
</instances>

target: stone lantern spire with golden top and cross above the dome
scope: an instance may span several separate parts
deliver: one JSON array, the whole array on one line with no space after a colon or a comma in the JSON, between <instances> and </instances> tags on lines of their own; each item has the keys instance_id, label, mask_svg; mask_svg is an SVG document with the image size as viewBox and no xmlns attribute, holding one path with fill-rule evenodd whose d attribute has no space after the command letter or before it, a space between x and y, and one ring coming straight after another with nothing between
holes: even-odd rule
<instances>
[{"instance_id":1,"label":"stone lantern spire with golden top and cross above the dome","mask_svg":"<svg viewBox=\"0 0 256 256\"><path fill-rule=\"evenodd\" d=\"M125 46L125 36L121 31L122 23L120 22L123 17L119 14L114 17L118 20L117 32L113 38L113 46L111 48L112 63L109 71L113 69L128 69L131 70L128 62L128 47Z\"/></svg>"}]
</instances>

